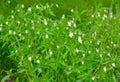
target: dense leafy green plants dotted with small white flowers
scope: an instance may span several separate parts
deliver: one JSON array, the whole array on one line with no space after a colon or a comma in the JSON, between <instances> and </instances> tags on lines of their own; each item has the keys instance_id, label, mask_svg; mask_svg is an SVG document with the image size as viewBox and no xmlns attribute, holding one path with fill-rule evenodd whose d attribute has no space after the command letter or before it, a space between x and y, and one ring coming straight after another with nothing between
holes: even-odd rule
<instances>
[{"instance_id":1,"label":"dense leafy green plants dotted with small white flowers","mask_svg":"<svg viewBox=\"0 0 120 82\"><path fill-rule=\"evenodd\" d=\"M56 17L59 4L18 4L0 16L0 80L12 82L117 82L120 12L112 7Z\"/></svg>"}]
</instances>

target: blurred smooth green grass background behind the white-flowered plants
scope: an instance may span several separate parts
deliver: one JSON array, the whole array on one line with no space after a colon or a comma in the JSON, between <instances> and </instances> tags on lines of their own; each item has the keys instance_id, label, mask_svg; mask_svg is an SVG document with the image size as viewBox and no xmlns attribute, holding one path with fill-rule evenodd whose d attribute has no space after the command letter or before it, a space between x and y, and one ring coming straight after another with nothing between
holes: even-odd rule
<instances>
[{"instance_id":1,"label":"blurred smooth green grass background behind the white-flowered plants","mask_svg":"<svg viewBox=\"0 0 120 82\"><path fill-rule=\"evenodd\" d=\"M79 10L97 8L97 7L111 7L113 11L119 6L120 0L0 0L0 15L7 17L10 11L13 10L17 4L25 4L25 7L33 5L34 3L55 3L60 5L60 9L56 12L67 12L70 9L77 8Z\"/></svg>"}]
</instances>

